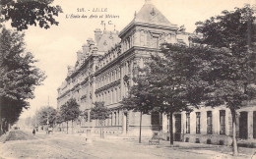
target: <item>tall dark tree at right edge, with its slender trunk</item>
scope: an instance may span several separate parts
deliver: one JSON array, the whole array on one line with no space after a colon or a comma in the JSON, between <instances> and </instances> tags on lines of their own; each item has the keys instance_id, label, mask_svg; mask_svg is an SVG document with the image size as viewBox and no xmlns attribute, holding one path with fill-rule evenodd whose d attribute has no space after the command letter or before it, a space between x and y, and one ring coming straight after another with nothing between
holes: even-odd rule
<instances>
[{"instance_id":1,"label":"tall dark tree at right edge, with its slender trunk","mask_svg":"<svg viewBox=\"0 0 256 159\"><path fill-rule=\"evenodd\" d=\"M250 6L223 11L221 16L198 22L196 32L202 37L194 42L226 48L219 54L209 54L212 71L204 80L211 84L211 106L225 104L232 115L233 155L237 155L236 110L255 96L256 26Z\"/></svg>"}]
</instances>

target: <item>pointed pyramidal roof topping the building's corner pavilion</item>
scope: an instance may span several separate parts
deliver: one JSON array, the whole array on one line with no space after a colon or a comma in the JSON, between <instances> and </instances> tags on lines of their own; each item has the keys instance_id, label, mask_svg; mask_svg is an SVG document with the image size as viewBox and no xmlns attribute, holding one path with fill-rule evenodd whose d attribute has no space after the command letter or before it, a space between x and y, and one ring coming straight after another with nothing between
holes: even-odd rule
<instances>
[{"instance_id":1,"label":"pointed pyramidal roof topping the building's corner pavilion","mask_svg":"<svg viewBox=\"0 0 256 159\"><path fill-rule=\"evenodd\" d=\"M150 0L146 0L146 3L143 5L138 14L134 15L133 21L127 26L124 27L119 36L121 37L125 32L127 32L131 27L135 25L142 26L151 26L151 27L163 27L168 29L176 30L178 27L171 24L156 8Z\"/></svg>"}]
</instances>

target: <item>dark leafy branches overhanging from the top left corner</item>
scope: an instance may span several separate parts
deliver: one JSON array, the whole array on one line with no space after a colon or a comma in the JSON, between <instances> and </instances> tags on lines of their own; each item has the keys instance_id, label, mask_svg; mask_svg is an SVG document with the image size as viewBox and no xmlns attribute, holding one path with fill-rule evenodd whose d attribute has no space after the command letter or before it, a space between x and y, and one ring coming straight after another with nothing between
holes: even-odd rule
<instances>
[{"instance_id":1,"label":"dark leafy branches overhanging from the top left corner","mask_svg":"<svg viewBox=\"0 0 256 159\"><path fill-rule=\"evenodd\" d=\"M49 28L58 25L54 17L62 13L60 6L52 6L53 0L1 0L0 23L11 21L11 26L18 30L28 26ZM1 27L1 26L0 26Z\"/></svg>"}]
</instances>

